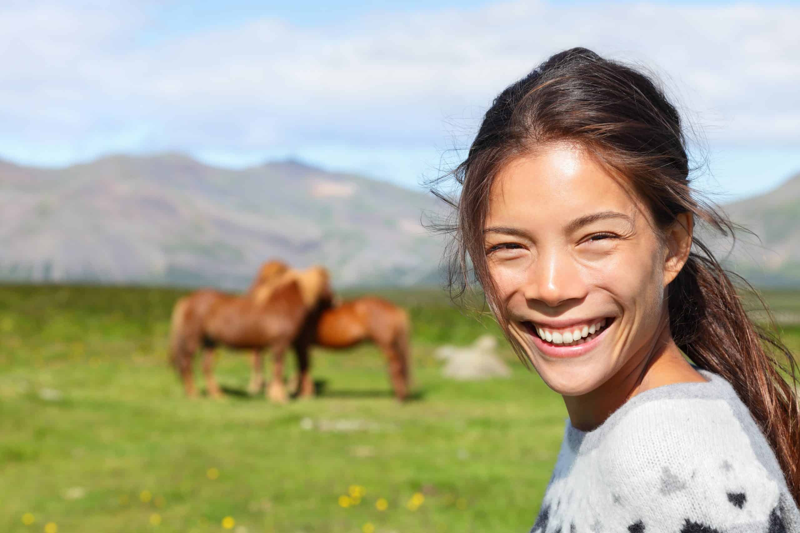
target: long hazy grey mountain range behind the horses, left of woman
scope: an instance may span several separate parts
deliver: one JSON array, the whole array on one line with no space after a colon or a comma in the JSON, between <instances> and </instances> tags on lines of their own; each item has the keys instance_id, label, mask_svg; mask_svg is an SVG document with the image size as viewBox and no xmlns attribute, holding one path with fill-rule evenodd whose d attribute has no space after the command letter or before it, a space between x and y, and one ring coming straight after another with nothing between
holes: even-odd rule
<instances>
[{"instance_id":1,"label":"long hazy grey mountain range behind the horses, left of woman","mask_svg":"<svg viewBox=\"0 0 800 533\"><path fill-rule=\"evenodd\" d=\"M0 161L0 278L243 288L281 258L334 284L438 279L432 195L297 161L220 169L180 154L65 169Z\"/></svg>"}]
</instances>

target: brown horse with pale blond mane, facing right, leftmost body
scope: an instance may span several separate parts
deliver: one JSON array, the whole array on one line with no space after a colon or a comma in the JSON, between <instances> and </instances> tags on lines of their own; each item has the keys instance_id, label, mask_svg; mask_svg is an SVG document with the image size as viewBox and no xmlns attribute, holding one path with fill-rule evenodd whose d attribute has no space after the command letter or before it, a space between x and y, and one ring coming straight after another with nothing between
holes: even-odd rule
<instances>
[{"instance_id":1,"label":"brown horse with pale blond mane, facing right, leftmost body","mask_svg":"<svg viewBox=\"0 0 800 533\"><path fill-rule=\"evenodd\" d=\"M172 359L181 373L186 392L191 396L191 360L204 348L203 371L211 396L221 396L214 380L214 348L262 350L272 348L273 380L267 391L272 400L285 401L282 382L286 348L301 332L310 312L330 305L330 285L322 267L303 272L290 271L269 288L256 288L249 296L231 296L216 291L201 291L179 300L173 312Z\"/></svg>"}]
</instances>

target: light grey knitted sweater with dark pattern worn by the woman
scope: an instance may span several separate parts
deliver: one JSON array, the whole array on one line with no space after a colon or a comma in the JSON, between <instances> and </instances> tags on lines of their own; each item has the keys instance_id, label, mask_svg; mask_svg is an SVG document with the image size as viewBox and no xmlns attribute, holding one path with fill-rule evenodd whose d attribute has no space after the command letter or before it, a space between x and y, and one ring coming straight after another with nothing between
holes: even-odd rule
<instances>
[{"instance_id":1,"label":"light grey knitted sweater with dark pattern worn by the woman","mask_svg":"<svg viewBox=\"0 0 800 533\"><path fill-rule=\"evenodd\" d=\"M800 533L774 452L730 384L642 392L591 432L566 422L531 533Z\"/></svg>"}]
</instances>

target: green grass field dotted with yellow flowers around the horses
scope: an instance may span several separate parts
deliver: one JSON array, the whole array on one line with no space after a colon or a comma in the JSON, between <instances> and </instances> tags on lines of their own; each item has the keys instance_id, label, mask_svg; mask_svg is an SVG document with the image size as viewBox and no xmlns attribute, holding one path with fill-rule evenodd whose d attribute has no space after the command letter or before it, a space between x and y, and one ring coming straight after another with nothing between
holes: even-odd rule
<instances>
[{"instance_id":1,"label":"green grass field dotted with yellow flowers around the horses","mask_svg":"<svg viewBox=\"0 0 800 533\"><path fill-rule=\"evenodd\" d=\"M0 286L0 531L533 523L562 436L561 398L507 351L509 380L474 383L443 379L432 356L439 344L498 335L490 320L462 315L438 292L386 293L414 322L407 404L390 396L370 346L316 350L320 396L286 406L244 395L246 358L222 352L226 400L187 400L166 365L170 308L182 293ZM784 336L800 350L800 328Z\"/></svg>"}]
</instances>

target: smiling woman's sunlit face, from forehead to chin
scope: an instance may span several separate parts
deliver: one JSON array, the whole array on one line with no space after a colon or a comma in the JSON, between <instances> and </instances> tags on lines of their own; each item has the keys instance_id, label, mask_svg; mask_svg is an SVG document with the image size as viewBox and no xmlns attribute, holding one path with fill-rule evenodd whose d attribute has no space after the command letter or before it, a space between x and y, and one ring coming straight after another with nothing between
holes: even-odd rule
<instances>
[{"instance_id":1,"label":"smiling woman's sunlit face, from forehead to chin","mask_svg":"<svg viewBox=\"0 0 800 533\"><path fill-rule=\"evenodd\" d=\"M495 179L484 239L498 304L556 392L591 392L650 351L674 276L648 217L571 145L511 161Z\"/></svg>"}]
</instances>

